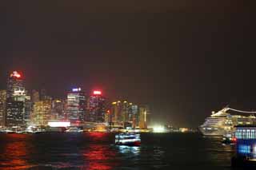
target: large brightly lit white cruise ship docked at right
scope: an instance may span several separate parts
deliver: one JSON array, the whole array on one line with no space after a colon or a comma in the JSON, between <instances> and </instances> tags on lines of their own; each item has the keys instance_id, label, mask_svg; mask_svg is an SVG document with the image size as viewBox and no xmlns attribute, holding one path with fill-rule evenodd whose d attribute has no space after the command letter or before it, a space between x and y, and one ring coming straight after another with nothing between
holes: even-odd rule
<instances>
[{"instance_id":1,"label":"large brightly lit white cruise ship docked at right","mask_svg":"<svg viewBox=\"0 0 256 170\"><path fill-rule=\"evenodd\" d=\"M233 110L239 113L250 113L250 116L231 115L228 110ZM227 132L234 131L236 125L252 125L256 123L256 117L253 115L256 112L245 112L242 110L224 108L218 113L212 113L206 118L203 125L199 126L200 132L204 136L223 136Z\"/></svg>"}]
</instances>

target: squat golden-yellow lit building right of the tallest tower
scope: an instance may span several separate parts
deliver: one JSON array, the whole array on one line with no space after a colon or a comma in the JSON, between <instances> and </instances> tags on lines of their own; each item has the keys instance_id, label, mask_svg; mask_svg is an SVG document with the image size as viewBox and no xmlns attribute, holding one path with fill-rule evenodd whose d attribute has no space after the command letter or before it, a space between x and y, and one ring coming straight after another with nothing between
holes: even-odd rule
<instances>
[{"instance_id":1,"label":"squat golden-yellow lit building right of the tallest tower","mask_svg":"<svg viewBox=\"0 0 256 170\"><path fill-rule=\"evenodd\" d=\"M51 118L51 101L37 101L33 106L32 121L34 125L48 125Z\"/></svg>"}]
</instances>

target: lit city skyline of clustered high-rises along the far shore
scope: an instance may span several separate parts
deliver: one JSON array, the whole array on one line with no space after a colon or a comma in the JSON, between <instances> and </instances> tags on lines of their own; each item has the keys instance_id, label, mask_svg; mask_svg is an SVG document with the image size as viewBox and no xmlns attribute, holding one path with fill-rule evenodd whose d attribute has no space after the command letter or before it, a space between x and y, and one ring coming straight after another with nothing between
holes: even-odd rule
<instances>
[{"instance_id":1,"label":"lit city skyline of clustered high-rises along the far shore","mask_svg":"<svg viewBox=\"0 0 256 170\"><path fill-rule=\"evenodd\" d=\"M68 123L90 130L116 127L147 129L150 123L147 121L150 114L148 105L138 106L123 101L116 111L102 90L86 94L80 87L67 91L65 98L54 98L46 89L26 89L24 75L16 70L10 72L6 89L0 91L1 127L23 129L66 122L64 125ZM117 103L121 104L121 101Z\"/></svg>"}]
</instances>

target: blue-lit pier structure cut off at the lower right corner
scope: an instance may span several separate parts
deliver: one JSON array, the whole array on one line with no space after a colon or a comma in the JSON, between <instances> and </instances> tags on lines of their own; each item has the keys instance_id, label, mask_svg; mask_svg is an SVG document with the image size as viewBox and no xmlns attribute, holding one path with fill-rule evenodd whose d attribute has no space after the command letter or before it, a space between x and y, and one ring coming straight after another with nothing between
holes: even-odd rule
<instances>
[{"instance_id":1,"label":"blue-lit pier structure cut off at the lower right corner","mask_svg":"<svg viewBox=\"0 0 256 170\"><path fill-rule=\"evenodd\" d=\"M234 168L256 168L256 125L238 125L236 155L232 157Z\"/></svg>"}]
</instances>

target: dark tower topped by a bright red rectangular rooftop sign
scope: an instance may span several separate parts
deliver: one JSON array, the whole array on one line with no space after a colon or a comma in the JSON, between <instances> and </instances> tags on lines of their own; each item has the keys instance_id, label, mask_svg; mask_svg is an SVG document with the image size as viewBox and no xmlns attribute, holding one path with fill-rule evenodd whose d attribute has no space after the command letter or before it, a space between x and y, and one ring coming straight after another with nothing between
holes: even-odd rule
<instances>
[{"instance_id":1,"label":"dark tower topped by a bright red rectangular rooftop sign","mask_svg":"<svg viewBox=\"0 0 256 170\"><path fill-rule=\"evenodd\" d=\"M88 98L86 121L105 122L106 116L106 98L102 96L101 91L94 91Z\"/></svg>"}]
</instances>

